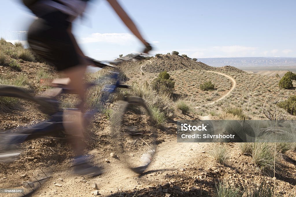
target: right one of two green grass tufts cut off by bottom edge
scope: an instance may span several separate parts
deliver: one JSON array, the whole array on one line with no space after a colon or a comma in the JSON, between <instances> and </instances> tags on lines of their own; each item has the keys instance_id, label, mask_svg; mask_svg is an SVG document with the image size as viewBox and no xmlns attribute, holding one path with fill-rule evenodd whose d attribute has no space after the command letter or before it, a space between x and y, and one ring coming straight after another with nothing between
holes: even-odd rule
<instances>
[{"instance_id":1,"label":"right one of two green grass tufts cut off by bottom edge","mask_svg":"<svg viewBox=\"0 0 296 197\"><path fill-rule=\"evenodd\" d=\"M252 185L252 187L244 186L244 191L246 197L272 197L274 193L274 188L262 180L260 184Z\"/></svg>"}]
</instances>

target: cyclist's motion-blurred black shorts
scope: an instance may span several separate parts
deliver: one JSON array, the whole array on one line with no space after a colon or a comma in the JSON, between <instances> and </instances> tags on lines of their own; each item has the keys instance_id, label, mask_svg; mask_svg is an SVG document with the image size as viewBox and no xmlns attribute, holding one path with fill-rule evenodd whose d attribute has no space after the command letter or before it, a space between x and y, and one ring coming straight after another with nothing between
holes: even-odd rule
<instances>
[{"instance_id":1,"label":"cyclist's motion-blurred black shorts","mask_svg":"<svg viewBox=\"0 0 296 197\"><path fill-rule=\"evenodd\" d=\"M67 17L60 11L51 12L36 19L28 31L30 48L59 71L79 65L83 56Z\"/></svg>"}]
</instances>

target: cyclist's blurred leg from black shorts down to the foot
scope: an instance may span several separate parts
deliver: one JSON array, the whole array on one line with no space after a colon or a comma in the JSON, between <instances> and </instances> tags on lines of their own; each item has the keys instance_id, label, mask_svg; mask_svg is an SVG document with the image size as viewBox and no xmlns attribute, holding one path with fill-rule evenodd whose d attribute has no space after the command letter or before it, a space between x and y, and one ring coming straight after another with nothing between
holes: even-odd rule
<instances>
[{"instance_id":1,"label":"cyclist's blurred leg from black shorts down to the foot","mask_svg":"<svg viewBox=\"0 0 296 197\"><path fill-rule=\"evenodd\" d=\"M46 14L43 19L37 19L29 29L28 43L35 53L54 64L59 71L63 71L70 78L69 86L77 92L83 102L85 97L83 75L86 70L86 64L83 61L83 53L71 33L71 23L67 22L66 19L67 15L59 11ZM83 131L85 128L82 111L83 107L81 106L80 110L72 111L68 114L65 113L64 116L64 122L72 118L71 123L65 123L64 126L68 133L75 136L71 144L77 156L83 155L85 147L83 142ZM81 158L78 157L75 163L78 166L83 164L82 170L79 170L78 167L76 172L89 174L89 171L87 173L83 171L87 166L85 165L85 158ZM98 170L98 168L91 167L90 171L95 170Z\"/></svg>"}]
</instances>

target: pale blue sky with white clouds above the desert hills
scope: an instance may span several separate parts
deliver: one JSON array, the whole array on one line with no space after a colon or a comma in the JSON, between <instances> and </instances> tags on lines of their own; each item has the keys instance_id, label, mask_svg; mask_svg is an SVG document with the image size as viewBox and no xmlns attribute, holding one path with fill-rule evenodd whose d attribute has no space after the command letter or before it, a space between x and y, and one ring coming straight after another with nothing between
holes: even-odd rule
<instances>
[{"instance_id":1,"label":"pale blue sky with white clouds above the desert hills","mask_svg":"<svg viewBox=\"0 0 296 197\"><path fill-rule=\"evenodd\" d=\"M296 1L118 0L153 44L152 53L179 51L191 58L296 57ZM34 19L19 0L1 1L0 36L26 40ZM112 59L139 51L105 0L94 0L73 32L87 56Z\"/></svg>"}]
</instances>

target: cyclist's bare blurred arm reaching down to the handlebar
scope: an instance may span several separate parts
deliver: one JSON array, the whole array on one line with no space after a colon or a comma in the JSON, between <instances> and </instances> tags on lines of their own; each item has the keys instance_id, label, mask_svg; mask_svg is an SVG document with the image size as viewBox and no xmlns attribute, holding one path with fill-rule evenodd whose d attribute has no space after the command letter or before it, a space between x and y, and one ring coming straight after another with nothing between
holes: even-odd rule
<instances>
[{"instance_id":1,"label":"cyclist's bare blurred arm reaching down to the handlebar","mask_svg":"<svg viewBox=\"0 0 296 197\"><path fill-rule=\"evenodd\" d=\"M149 45L144 38L141 36L139 30L137 29L136 25L133 23L133 21L128 17L128 14L123 10L123 8L120 6L120 4L117 2L117 0L107 0L109 4L112 6L116 14L120 17L120 19L124 22L124 24L128 27L128 29L131 30L131 32L139 38L139 40L145 45Z\"/></svg>"}]
</instances>

